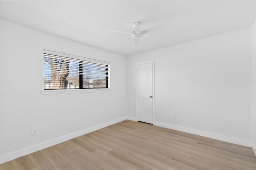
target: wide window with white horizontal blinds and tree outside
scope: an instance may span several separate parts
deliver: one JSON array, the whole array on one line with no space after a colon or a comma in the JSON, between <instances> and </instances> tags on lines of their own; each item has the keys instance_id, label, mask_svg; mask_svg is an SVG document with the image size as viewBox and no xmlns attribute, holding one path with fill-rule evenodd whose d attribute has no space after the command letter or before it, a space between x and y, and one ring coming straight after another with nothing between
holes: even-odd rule
<instances>
[{"instance_id":1,"label":"wide window with white horizontal blinds and tree outside","mask_svg":"<svg viewBox=\"0 0 256 170\"><path fill-rule=\"evenodd\" d=\"M44 90L108 88L109 63L44 50Z\"/></svg>"}]
</instances>

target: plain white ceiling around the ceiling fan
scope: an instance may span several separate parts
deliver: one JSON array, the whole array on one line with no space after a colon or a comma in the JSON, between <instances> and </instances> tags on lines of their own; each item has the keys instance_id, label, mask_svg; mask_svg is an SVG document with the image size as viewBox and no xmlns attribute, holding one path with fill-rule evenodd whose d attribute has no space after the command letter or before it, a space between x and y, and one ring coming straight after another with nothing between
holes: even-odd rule
<instances>
[{"instance_id":1,"label":"plain white ceiling around the ceiling fan","mask_svg":"<svg viewBox=\"0 0 256 170\"><path fill-rule=\"evenodd\" d=\"M255 0L52 0L0 1L0 18L122 55L132 55L251 27ZM132 23L166 29L128 34Z\"/></svg>"}]
</instances>

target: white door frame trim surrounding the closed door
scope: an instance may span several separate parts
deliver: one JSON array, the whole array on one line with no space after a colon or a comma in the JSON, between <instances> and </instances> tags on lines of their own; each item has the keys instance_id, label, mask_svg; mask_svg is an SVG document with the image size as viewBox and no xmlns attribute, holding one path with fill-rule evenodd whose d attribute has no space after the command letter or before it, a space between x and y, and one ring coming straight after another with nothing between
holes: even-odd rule
<instances>
[{"instance_id":1,"label":"white door frame trim surrounding the closed door","mask_svg":"<svg viewBox=\"0 0 256 170\"><path fill-rule=\"evenodd\" d=\"M153 125L155 124L155 61L146 61L142 63L136 63L136 121L138 121L138 65L152 63L152 100L153 100Z\"/></svg>"}]
</instances>

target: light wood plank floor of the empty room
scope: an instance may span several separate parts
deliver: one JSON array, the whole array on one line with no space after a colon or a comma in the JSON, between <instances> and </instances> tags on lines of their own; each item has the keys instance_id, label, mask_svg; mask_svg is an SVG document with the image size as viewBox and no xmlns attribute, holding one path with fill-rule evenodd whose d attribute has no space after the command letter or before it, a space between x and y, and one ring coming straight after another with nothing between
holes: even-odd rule
<instances>
[{"instance_id":1,"label":"light wood plank floor of the empty room","mask_svg":"<svg viewBox=\"0 0 256 170\"><path fill-rule=\"evenodd\" d=\"M256 156L249 147L126 120L0 164L55 169L256 170Z\"/></svg>"}]
</instances>

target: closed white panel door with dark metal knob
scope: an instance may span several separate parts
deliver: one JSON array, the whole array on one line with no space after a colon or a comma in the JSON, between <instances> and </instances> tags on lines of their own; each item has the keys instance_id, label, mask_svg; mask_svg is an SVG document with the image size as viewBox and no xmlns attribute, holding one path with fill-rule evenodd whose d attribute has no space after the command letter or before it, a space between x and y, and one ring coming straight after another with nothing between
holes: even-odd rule
<instances>
[{"instance_id":1,"label":"closed white panel door with dark metal knob","mask_svg":"<svg viewBox=\"0 0 256 170\"><path fill-rule=\"evenodd\" d=\"M153 124L153 62L137 64L138 121Z\"/></svg>"}]
</instances>

